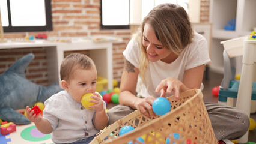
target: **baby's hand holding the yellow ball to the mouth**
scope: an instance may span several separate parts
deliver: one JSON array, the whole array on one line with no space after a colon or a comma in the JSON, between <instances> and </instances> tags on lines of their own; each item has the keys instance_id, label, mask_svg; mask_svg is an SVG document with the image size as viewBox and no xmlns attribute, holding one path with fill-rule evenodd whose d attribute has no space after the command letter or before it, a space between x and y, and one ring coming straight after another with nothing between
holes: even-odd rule
<instances>
[{"instance_id":1,"label":"baby's hand holding the yellow ball to the mouth","mask_svg":"<svg viewBox=\"0 0 256 144\"><path fill-rule=\"evenodd\" d=\"M94 105L88 106L89 108L94 108L96 110L96 112L100 112L102 110L105 110L103 107L103 101L102 101L102 96L98 93L94 93L93 95L91 95L91 98L93 98L94 100L89 100L89 102L91 103L95 103Z\"/></svg>"}]
</instances>

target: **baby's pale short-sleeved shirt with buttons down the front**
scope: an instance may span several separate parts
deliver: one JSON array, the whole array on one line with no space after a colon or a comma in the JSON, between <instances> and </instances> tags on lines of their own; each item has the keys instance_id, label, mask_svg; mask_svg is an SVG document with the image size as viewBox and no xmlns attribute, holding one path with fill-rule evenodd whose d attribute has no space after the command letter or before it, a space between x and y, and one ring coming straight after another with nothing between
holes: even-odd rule
<instances>
[{"instance_id":1,"label":"baby's pale short-sleeved shirt with buttons down the front","mask_svg":"<svg viewBox=\"0 0 256 144\"><path fill-rule=\"evenodd\" d=\"M96 111L83 107L67 91L52 95L44 105L43 117L52 125L53 142L71 143L99 133L93 125ZM103 107L106 109L104 101ZM88 136L85 136L85 132Z\"/></svg>"}]
</instances>

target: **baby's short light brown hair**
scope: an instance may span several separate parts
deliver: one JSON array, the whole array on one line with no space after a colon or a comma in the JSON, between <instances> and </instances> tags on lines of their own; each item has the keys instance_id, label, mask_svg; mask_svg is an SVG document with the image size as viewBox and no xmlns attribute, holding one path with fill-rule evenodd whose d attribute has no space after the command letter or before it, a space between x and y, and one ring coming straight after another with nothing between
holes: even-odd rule
<instances>
[{"instance_id":1,"label":"baby's short light brown hair","mask_svg":"<svg viewBox=\"0 0 256 144\"><path fill-rule=\"evenodd\" d=\"M93 60L89 58L87 55L83 55L80 53L72 53L66 56L66 58L64 58L61 63L61 80L68 81L75 68L90 70L93 67L96 68Z\"/></svg>"}]
</instances>

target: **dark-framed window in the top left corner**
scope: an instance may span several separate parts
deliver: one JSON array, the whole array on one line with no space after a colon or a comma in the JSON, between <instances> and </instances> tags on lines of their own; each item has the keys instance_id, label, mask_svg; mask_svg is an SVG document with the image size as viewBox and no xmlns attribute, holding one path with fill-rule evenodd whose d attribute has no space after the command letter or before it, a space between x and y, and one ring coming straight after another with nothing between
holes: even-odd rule
<instances>
[{"instance_id":1,"label":"dark-framed window in the top left corner","mask_svg":"<svg viewBox=\"0 0 256 144\"><path fill-rule=\"evenodd\" d=\"M52 31L50 0L1 0L4 32Z\"/></svg>"}]
</instances>

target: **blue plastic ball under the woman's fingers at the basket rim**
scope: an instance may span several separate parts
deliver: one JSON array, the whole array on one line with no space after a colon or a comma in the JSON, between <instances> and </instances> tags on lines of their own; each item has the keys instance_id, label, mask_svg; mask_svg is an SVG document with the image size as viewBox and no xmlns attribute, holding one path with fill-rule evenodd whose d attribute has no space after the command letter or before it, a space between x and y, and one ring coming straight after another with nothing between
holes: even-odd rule
<instances>
[{"instance_id":1,"label":"blue plastic ball under the woman's fingers at the basket rim","mask_svg":"<svg viewBox=\"0 0 256 144\"><path fill-rule=\"evenodd\" d=\"M152 107L156 115L162 116L171 110L171 103L169 103L169 100L167 100L167 98L158 97L156 98L156 100L154 100Z\"/></svg>"}]
</instances>

